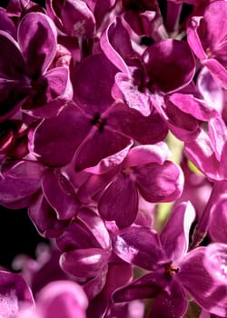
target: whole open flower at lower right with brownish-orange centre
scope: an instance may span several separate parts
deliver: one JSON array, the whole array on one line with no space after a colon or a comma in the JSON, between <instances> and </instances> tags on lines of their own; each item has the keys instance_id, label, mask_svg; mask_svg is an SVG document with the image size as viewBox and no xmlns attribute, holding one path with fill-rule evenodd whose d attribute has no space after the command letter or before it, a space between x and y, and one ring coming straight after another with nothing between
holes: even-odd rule
<instances>
[{"instance_id":1,"label":"whole open flower at lower right with brownish-orange centre","mask_svg":"<svg viewBox=\"0 0 227 318\"><path fill-rule=\"evenodd\" d=\"M192 204L183 203L174 209L160 235L131 227L114 237L115 253L151 272L116 291L115 302L155 297L151 317L183 317L189 293L208 312L226 315L226 286L215 285L206 272L206 248L187 253L193 218Z\"/></svg>"}]
</instances>

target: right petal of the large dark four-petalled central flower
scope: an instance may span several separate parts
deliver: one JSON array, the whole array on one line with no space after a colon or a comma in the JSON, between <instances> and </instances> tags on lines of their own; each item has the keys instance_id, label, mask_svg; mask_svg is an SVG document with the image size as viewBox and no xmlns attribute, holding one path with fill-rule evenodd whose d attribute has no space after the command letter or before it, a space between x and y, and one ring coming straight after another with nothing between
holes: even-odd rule
<instances>
[{"instance_id":1,"label":"right petal of the large dark four-petalled central flower","mask_svg":"<svg viewBox=\"0 0 227 318\"><path fill-rule=\"evenodd\" d=\"M140 144L156 144L168 133L163 119L154 110L145 117L125 104L114 104L107 114L107 123Z\"/></svg>"}]
</instances>

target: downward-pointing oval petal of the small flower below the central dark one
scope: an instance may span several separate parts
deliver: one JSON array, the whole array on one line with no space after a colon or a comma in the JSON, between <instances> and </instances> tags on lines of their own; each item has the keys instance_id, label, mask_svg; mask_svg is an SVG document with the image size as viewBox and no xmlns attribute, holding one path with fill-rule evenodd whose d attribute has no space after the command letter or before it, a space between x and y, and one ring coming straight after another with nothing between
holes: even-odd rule
<instances>
[{"instance_id":1,"label":"downward-pointing oval petal of the small flower below the central dark one","mask_svg":"<svg viewBox=\"0 0 227 318\"><path fill-rule=\"evenodd\" d=\"M138 213L138 193L129 176L117 176L102 195L98 210L104 220L114 220L119 228L133 224Z\"/></svg>"}]
</instances>

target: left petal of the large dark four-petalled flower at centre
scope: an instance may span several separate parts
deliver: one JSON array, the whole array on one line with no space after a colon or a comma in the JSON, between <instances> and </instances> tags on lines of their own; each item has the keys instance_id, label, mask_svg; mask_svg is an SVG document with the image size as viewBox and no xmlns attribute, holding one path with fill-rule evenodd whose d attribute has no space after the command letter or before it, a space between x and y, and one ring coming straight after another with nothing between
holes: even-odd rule
<instances>
[{"instance_id":1,"label":"left petal of the large dark four-petalled flower at centre","mask_svg":"<svg viewBox=\"0 0 227 318\"><path fill-rule=\"evenodd\" d=\"M90 129L89 118L77 107L65 106L60 114L38 125L30 136L30 147L44 164L65 165L72 160Z\"/></svg>"}]
</instances>

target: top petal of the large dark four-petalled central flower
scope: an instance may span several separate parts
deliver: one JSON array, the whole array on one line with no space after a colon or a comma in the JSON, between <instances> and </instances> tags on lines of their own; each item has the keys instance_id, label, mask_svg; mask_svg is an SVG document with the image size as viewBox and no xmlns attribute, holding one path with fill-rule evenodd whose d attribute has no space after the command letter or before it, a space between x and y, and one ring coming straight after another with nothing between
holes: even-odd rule
<instances>
[{"instance_id":1,"label":"top petal of the large dark four-petalled central flower","mask_svg":"<svg viewBox=\"0 0 227 318\"><path fill-rule=\"evenodd\" d=\"M101 54L85 58L75 68L72 80L74 98L86 113L102 113L113 104L111 90L116 72L116 67Z\"/></svg>"}]
</instances>

